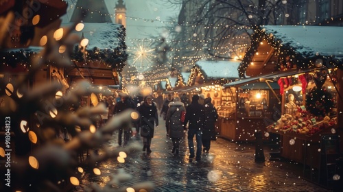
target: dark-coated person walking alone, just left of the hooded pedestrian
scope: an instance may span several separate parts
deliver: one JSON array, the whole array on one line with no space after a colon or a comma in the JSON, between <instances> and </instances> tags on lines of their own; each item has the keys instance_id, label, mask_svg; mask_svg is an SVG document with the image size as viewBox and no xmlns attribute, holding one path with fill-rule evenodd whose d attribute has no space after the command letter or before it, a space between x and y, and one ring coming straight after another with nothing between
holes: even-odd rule
<instances>
[{"instance_id":1,"label":"dark-coated person walking alone, just left of the hooded pedestrian","mask_svg":"<svg viewBox=\"0 0 343 192\"><path fill-rule=\"evenodd\" d=\"M158 112L156 104L152 102L152 96L147 95L143 103L138 108L141 115L139 126L141 127L141 136L143 137L143 151L152 152L150 149L152 138L154 137L154 128L158 126Z\"/></svg>"}]
</instances>

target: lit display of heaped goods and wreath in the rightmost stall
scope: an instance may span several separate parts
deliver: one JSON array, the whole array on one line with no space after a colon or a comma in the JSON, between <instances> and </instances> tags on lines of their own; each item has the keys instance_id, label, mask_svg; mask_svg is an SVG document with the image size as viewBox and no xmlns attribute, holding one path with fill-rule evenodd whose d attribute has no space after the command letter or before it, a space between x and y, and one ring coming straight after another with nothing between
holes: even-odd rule
<instances>
[{"instance_id":1,"label":"lit display of heaped goods and wreath in the rightmost stall","mask_svg":"<svg viewBox=\"0 0 343 192\"><path fill-rule=\"evenodd\" d=\"M305 93L303 89L294 91L294 86L301 85L301 82L285 89L283 115L271 126L274 130L311 136L335 124L335 82L332 82L329 75L323 77L318 73L322 72L308 74L311 78L306 84Z\"/></svg>"}]
</instances>

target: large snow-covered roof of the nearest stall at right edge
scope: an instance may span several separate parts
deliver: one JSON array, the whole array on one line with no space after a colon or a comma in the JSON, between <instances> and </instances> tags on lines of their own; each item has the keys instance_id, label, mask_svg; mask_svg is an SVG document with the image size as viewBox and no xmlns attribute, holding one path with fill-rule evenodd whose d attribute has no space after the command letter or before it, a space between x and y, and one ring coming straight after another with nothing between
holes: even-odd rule
<instances>
[{"instance_id":1,"label":"large snow-covered roof of the nearest stall at right edge","mask_svg":"<svg viewBox=\"0 0 343 192\"><path fill-rule=\"evenodd\" d=\"M305 57L343 58L343 27L265 25L262 28L281 41L281 45L288 45Z\"/></svg>"}]
</instances>

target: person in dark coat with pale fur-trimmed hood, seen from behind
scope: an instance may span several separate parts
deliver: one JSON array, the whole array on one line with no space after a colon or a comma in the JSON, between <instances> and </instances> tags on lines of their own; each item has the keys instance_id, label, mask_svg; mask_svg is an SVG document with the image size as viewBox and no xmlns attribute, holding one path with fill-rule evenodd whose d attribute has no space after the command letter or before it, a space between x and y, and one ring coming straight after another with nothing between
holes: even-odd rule
<instances>
[{"instance_id":1,"label":"person in dark coat with pale fur-trimmed hood, seen from behind","mask_svg":"<svg viewBox=\"0 0 343 192\"><path fill-rule=\"evenodd\" d=\"M165 121L167 121L167 126L169 127L169 136L173 142L173 149L171 152L175 154L178 154L180 141L185 136L185 133L183 132L183 122L181 121L181 113L185 111L185 106L180 102L180 98L175 97L174 101L169 103L167 116L165 117Z\"/></svg>"}]
</instances>

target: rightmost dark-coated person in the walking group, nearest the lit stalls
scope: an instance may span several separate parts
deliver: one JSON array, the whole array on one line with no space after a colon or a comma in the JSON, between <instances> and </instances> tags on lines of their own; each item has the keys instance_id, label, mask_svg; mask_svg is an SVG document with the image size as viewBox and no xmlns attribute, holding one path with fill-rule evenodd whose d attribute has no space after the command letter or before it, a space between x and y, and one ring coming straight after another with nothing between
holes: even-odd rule
<instances>
[{"instance_id":1,"label":"rightmost dark-coated person in the walking group, nearest the lit stalls","mask_svg":"<svg viewBox=\"0 0 343 192\"><path fill-rule=\"evenodd\" d=\"M211 139L215 138L215 121L218 119L218 113L213 104L211 97L204 99L205 121L202 129L202 152L209 153Z\"/></svg>"}]
</instances>

